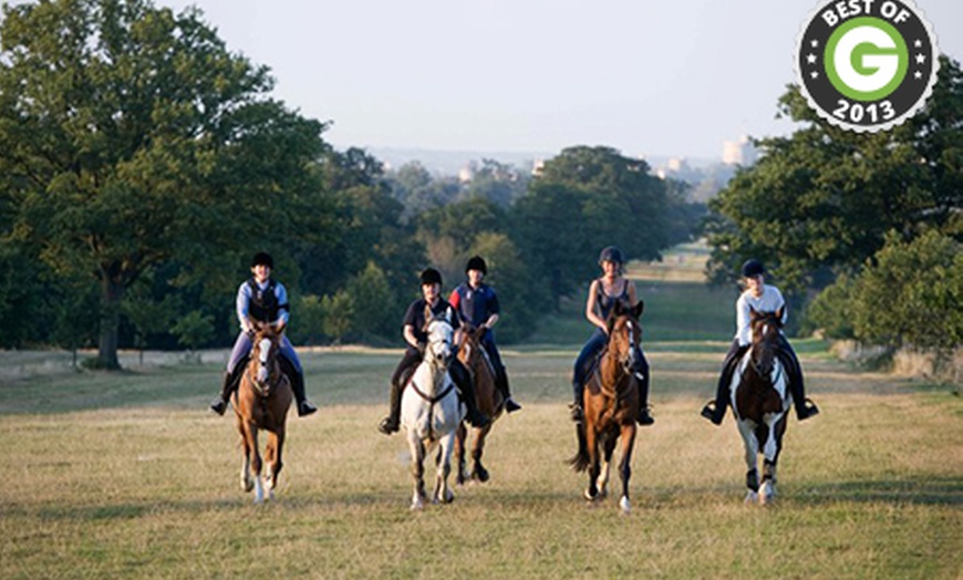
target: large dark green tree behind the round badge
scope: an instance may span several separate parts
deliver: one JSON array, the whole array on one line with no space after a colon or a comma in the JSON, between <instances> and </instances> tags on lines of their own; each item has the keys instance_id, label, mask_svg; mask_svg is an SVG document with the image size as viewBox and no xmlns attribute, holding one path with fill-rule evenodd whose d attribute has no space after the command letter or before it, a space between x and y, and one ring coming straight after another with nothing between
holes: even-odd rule
<instances>
[{"instance_id":1,"label":"large dark green tree behind the round badge","mask_svg":"<svg viewBox=\"0 0 963 580\"><path fill-rule=\"evenodd\" d=\"M951 231L963 207L963 74L941 59L925 108L891 131L860 134L809 108L798 87L780 112L804 126L760 139L759 162L738 170L711 203L711 273L732 280L748 257L764 260L788 287L821 287L855 272L886 234L905 238ZM957 232L959 235L959 232Z\"/></svg>"}]
</instances>

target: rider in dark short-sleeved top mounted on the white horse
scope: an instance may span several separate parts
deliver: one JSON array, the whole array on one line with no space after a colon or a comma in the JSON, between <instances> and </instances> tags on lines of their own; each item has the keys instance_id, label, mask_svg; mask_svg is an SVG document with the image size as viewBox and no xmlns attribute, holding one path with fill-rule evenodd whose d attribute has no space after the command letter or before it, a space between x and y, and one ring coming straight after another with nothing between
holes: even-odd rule
<instances>
[{"instance_id":1,"label":"rider in dark short-sleeved top mounted on the white horse","mask_svg":"<svg viewBox=\"0 0 963 580\"><path fill-rule=\"evenodd\" d=\"M422 362L425 349L427 348L427 320L426 307L429 309L433 317L444 317L445 312L452 309L452 327L457 330L459 328L458 311L452 308L447 300L442 298L442 275L434 268L427 268L421 273L422 298L415 300L408 305L405 312L405 318L402 322L402 336L405 340L405 352L398 362L397 367L391 377L390 403L391 412L384 417L377 426L377 429L385 435L391 435L397 432L401 423L401 397L402 391L414 372L415 367ZM468 410L468 423L475 427L484 427L490 420L480 411L478 411L475 400L475 389L472 386L472 380L468 371L462 365L457 356L453 356L448 364L448 374L455 386L462 393L462 400Z\"/></svg>"}]
</instances>

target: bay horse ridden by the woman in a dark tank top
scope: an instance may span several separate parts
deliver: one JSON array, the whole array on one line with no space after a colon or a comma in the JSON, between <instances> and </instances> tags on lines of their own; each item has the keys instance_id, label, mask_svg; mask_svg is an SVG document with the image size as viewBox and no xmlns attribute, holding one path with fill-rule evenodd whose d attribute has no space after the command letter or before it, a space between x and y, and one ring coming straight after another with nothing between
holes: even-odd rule
<instances>
[{"instance_id":1,"label":"bay horse ridden by the woman in a dark tank top","mask_svg":"<svg viewBox=\"0 0 963 580\"><path fill-rule=\"evenodd\" d=\"M640 300L634 307L617 302L607 320L609 342L594 372L586 381L582 395L584 421L576 426L579 450L569 460L576 472L589 472L584 497L589 501L608 495L609 470L617 442L621 442L619 474L622 478L622 514L631 511L629 478L632 475L632 448L635 445L635 417L639 413L639 384L635 377L636 345L644 310Z\"/></svg>"}]
</instances>

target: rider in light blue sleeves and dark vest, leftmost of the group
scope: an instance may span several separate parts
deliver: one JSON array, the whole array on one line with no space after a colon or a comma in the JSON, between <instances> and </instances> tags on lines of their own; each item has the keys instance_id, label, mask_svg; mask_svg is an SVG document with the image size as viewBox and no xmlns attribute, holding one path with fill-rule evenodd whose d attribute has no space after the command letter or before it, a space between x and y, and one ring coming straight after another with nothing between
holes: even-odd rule
<instances>
[{"instance_id":1,"label":"rider in light blue sleeves and dark vest, leftmost of the group","mask_svg":"<svg viewBox=\"0 0 963 580\"><path fill-rule=\"evenodd\" d=\"M288 291L284 289L284 284L271 278L273 268L275 260L269 253L257 252L251 260L251 278L242 282L237 290L236 304L240 332L227 363L220 396L210 403L210 410L218 415L224 415L227 410L230 395L238 387L245 371L246 365L241 364L241 361L248 358L253 348L251 339L253 339L255 331L250 321L270 323L279 333L288 325L290 319ZM294 391L298 416L303 417L314 413L318 407L308 401L304 394L304 371L301 367L301 361L286 333L281 334L280 354L281 367L291 380L291 390Z\"/></svg>"}]
</instances>

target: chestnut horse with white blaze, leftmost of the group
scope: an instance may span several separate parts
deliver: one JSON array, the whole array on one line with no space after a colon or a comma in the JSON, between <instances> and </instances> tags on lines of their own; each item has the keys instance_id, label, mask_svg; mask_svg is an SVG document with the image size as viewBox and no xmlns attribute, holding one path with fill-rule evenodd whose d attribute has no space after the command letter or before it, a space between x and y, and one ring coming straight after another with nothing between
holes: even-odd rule
<instances>
[{"instance_id":1,"label":"chestnut horse with white blaze, leftmost of the group","mask_svg":"<svg viewBox=\"0 0 963 580\"><path fill-rule=\"evenodd\" d=\"M256 332L250 361L241 376L240 386L231 395L231 403L237 415L237 428L244 439L241 488L245 491L253 489L255 504L261 504L265 500L265 487L267 498L275 497L278 475L283 467L281 453L284 447L284 425L293 393L290 380L281 370L279 361L281 333L270 324L251 322L251 325ZM268 470L263 484L258 429L268 432L268 444L265 447Z\"/></svg>"}]
</instances>

